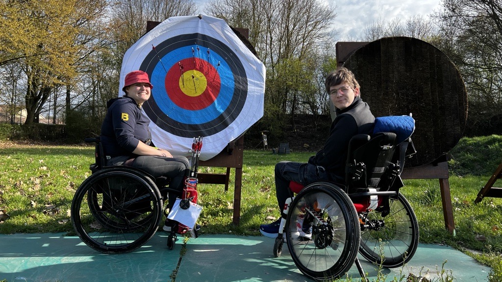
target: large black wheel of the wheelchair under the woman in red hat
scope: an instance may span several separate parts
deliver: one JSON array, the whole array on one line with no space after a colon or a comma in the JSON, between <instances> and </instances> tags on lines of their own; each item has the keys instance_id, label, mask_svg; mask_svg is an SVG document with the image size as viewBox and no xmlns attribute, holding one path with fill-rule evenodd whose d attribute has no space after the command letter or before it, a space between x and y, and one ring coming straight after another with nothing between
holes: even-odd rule
<instances>
[{"instance_id":1,"label":"large black wheel of the wheelchair under the woman in red hat","mask_svg":"<svg viewBox=\"0 0 502 282\"><path fill-rule=\"evenodd\" d=\"M157 231L162 198L144 173L127 167L102 169L87 178L71 203L77 235L103 253L130 252Z\"/></svg>"}]
</instances>

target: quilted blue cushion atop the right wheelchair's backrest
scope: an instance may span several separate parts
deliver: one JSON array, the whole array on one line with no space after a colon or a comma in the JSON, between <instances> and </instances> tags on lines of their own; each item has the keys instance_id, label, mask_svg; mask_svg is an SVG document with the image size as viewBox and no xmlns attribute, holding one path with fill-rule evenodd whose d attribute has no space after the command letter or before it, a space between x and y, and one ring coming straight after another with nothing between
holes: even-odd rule
<instances>
[{"instance_id":1,"label":"quilted blue cushion atop the right wheelchair's backrest","mask_svg":"<svg viewBox=\"0 0 502 282\"><path fill-rule=\"evenodd\" d=\"M415 119L409 115L391 115L375 118L373 134L378 132L396 133L396 142L400 144L415 131Z\"/></svg>"}]
</instances>

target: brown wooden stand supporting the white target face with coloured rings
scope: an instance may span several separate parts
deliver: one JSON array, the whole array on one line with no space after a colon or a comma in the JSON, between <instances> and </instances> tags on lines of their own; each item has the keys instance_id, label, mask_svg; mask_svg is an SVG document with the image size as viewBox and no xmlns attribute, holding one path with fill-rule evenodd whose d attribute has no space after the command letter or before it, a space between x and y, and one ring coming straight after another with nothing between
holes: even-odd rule
<instances>
[{"instance_id":1,"label":"brown wooden stand supporting the white target face with coloured rings","mask_svg":"<svg viewBox=\"0 0 502 282\"><path fill-rule=\"evenodd\" d=\"M147 33L158 26L161 22L148 21ZM232 28L240 40L256 54L253 46L247 41L249 30L241 28ZM202 147L204 148L204 147ZM233 218L232 223L239 224L240 220L240 197L242 188L242 159L244 155L244 133L229 142L226 149L221 151L215 157L207 161L199 161L199 167L217 167L226 168L226 173L198 173L199 184L222 184L225 185L225 192L228 191L230 180L230 169L235 169L235 182L233 191Z\"/></svg>"}]
</instances>

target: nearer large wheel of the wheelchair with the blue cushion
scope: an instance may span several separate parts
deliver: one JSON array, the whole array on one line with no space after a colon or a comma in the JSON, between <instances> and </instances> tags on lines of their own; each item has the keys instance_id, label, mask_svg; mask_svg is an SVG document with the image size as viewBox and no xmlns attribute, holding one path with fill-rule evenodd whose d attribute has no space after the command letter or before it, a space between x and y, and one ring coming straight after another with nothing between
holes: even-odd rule
<instances>
[{"instance_id":1,"label":"nearer large wheel of the wheelchair with the blue cushion","mask_svg":"<svg viewBox=\"0 0 502 282\"><path fill-rule=\"evenodd\" d=\"M291 257L303 274L322 281L338 278L350 269L357 256L357 212L337 186L312 183L291 204L286 236Z\"/></svg>"}]
</instances>

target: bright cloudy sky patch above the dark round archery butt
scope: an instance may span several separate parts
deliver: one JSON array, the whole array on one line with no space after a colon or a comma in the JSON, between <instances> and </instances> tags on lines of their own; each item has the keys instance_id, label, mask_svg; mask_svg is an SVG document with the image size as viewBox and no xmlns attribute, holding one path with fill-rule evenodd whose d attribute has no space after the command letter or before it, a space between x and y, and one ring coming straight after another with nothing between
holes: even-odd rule
<instances>
[{"instance_id":1,"label":"bright cloudy sky patch above the dark round archery butt","mask_svg":"<svg viewBox=\"0 0 502 282\"><path fill-rule=\"evenodd\" d=\"M337 17L333 28L338 32L336 41L362 38L364 27L378 20L390 22L395 18L407 19L413 15L427 16L440 8L440 0L322 0L336 6ZM199 13L204 13L207 0L195 0Z\"/></svg>"}]
</instances>

